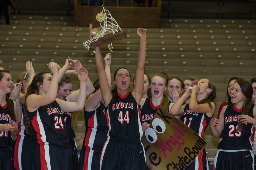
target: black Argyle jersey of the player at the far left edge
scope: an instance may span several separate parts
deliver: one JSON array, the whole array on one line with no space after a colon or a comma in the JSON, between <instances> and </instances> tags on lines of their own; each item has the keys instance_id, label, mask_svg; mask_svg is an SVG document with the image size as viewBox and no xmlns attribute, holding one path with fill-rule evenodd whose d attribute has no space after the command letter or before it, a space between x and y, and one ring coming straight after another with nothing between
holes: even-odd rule
<instances>
[{"instance_id":1,"label":"black Argyle jersey of the player at the far left edge","mask_svg":"<svg viewBox=\"0 0 256 170\"><path fill-rule=\"evenodd\" d=\"M1 106L0 105L0 125L11 123L12 119L10 117L8 107L14 107L13 100L11 100L11 106L6 105ZM0 131L0 148L7 148L10 147L14 143L11 132L4 132Z\"/></svg>"}]
</instances>

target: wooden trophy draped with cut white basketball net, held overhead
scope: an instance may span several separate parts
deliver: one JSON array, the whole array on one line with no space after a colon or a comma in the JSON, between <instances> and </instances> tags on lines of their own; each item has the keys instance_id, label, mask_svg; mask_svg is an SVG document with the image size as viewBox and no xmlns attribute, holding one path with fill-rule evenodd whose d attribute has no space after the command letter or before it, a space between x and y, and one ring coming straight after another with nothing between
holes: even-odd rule
<instances>
[{"instance_id":1,"label":"wooden trophy draped with cut white basketball net, held overhead","mask_svg":"<svg viewBox=\"0 0 256 170\"><path fill-rule=\"evenodd\" d=\"M112 42L127 38L126 32L122 31L105 6L93 8L93 27L95 27L93 38L83 43L88 50L108 44L109 50L112 51Z\"/></svg>"}]
</instances>

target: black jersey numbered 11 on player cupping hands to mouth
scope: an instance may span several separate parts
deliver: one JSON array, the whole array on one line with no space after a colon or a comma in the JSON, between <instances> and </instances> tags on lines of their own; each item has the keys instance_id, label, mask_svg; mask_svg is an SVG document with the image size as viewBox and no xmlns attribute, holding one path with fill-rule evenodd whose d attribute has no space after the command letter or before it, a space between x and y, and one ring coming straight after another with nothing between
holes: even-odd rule
<instances>
[{"instance_id":1,"label":"black jersey numbered 11 on player cupping hands to mouth","mask_svg":"<svg viewBox=\"0 0 256 170\"><path fill-rule=\"evenodd\" d=\"M180 121L183 121L189 128L195 131L200 137L204 137L204 131L209 125L211 117L208 117L206 113L192 112L189 110L189 104L187 104L180 116Z\"/></svg>"}]
</instances>

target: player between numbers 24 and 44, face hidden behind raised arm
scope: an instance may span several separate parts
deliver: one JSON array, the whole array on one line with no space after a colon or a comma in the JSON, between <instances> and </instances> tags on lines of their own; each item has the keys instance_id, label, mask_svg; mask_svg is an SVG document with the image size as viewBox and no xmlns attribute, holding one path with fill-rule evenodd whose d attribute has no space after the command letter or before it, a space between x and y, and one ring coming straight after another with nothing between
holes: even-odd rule
<instances>
[{"instance_id":1,"label":"player between numbers 24 and 44, face hidden behind raised arm","mask_svg":"<svg viewBox=\"0 0 256 170\"><path fill-rule=\"evenodd\" d=\"M111 87L111 54L105 58L105 72ZM103 144L107 138L108 126L105 115L105 105L101 95L99 80L94 83L95 92L86 100L85 116L85 138L79 158L79 170L100 169L100 156Z\"/></svg>"}]
</instances>

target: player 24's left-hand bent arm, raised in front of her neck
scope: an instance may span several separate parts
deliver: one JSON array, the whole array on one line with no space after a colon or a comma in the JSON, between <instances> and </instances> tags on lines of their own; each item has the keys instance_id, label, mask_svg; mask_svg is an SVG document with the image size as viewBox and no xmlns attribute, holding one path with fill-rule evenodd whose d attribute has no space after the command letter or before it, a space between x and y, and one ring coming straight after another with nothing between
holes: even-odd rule
<instances>
[{"instance_id":1,"label":"player 24's left-hand bent arm, raised in front of her neck","mask_svg":"<svg viewBox=\"0 0 256 170\"><path fill-rule=\"evenodd\" d=\"M31 94L27 97L27 109L29 112L33 112L40 106L48 105L55 101L58 91L58 68L57 63L50 62L49 68L52 71L52 78L46 77L46 81L51 81L47 93L45 95ZM32 84L30 85L32 86ZM39 85L40 87L40 85ZM28 87L29 88L29 87Z\"/></svg>"}]
</instances>

